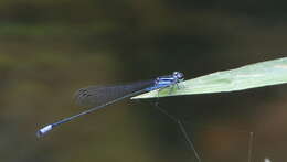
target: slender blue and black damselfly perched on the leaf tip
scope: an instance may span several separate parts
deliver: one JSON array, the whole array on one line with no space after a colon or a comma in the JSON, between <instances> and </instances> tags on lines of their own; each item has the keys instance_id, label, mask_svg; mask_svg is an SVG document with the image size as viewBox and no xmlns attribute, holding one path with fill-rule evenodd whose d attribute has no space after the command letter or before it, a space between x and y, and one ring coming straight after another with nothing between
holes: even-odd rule
<instances>
[{"instance_id":1,"label":"slender blue and black damselfly perched on the leaf tip","mask_svg":"<svg viewBox=\"0 0 287 162\"><path fill-rule=\"evenodd\" d=\"M89 86L82 88L76 93L76 102L78 105L94 106L93 108L85 110L81 114L64 118L57 122L50 123L41 128L38 132L38 137L42 137L47 133L53 128L68 122L77 117L89 114L92 111L104 108L121 99L132 97L139 94L151 91L155 89L162 89L166 87L173 86L183 80L183 74L180 72L173 72L171 75L159 76L156 79L147 82L137 82L127 85L116 85L116 86Z\"/></svg>"}]
</instances>

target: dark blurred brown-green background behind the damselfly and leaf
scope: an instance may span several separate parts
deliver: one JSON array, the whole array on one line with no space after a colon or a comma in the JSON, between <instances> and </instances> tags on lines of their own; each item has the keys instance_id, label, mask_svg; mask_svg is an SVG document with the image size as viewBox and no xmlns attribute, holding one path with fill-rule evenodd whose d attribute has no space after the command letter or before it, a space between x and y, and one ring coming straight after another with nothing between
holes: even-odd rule
<instances>
[{"instance_id":1,"label":"dark blurred brown-green background behind the damselfly and leaf","mask_svg":"<svg viewBox=\"0 0 287 162\"><path fill-rule=\"evenodd\" d=\"M85 108L87 85L180 71L193 78L285 56L287 2L13 0L0 2L1 162L195 162L155 100L129 99L38 139ZM203 162L287 160L287 86L161 98Z\"/></svg>"}]
</instances>

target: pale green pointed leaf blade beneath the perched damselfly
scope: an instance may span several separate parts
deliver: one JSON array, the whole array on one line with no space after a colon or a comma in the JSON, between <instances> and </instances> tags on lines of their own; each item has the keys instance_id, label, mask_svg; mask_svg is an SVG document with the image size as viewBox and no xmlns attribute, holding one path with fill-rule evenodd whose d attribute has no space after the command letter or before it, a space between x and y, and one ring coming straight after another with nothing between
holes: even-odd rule
<instances>
[{"instance_id":1,"label":"pale green pointed leaf blade beneath the perched damselfly","mask_svg":"<svg viewBox=\"0 0 287 162\"><path fill-rule=\"evenodd\" d=\"M287 57L188 79L178 86L152 90L131 99L244 90L287 83Z\"/></svg>"}]
</instances>

